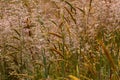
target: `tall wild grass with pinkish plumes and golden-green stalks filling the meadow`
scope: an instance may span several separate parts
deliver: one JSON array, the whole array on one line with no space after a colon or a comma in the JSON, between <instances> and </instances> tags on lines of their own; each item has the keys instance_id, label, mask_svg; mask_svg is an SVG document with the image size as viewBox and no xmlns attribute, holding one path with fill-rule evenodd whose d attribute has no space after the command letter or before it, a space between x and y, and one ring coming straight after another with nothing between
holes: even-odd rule
<instances>
[{"instance_id":1,"label":"tall wild grass with pinkish plumes and golden-green stalks filling the meadow","mask_svg":"<svg viewBox=\"0 0 120 80\"><path fill-rule=\"evenodd\" d=\"M81 7L67 0L45 1L54 5L47 7L37 0L20 3L29 17L0 34L0 80L120 79L120 22L107 8L114 1L100 8L97 0ZM40 4L43 12L34 13Z\"/></svg>"}]
</instances>

